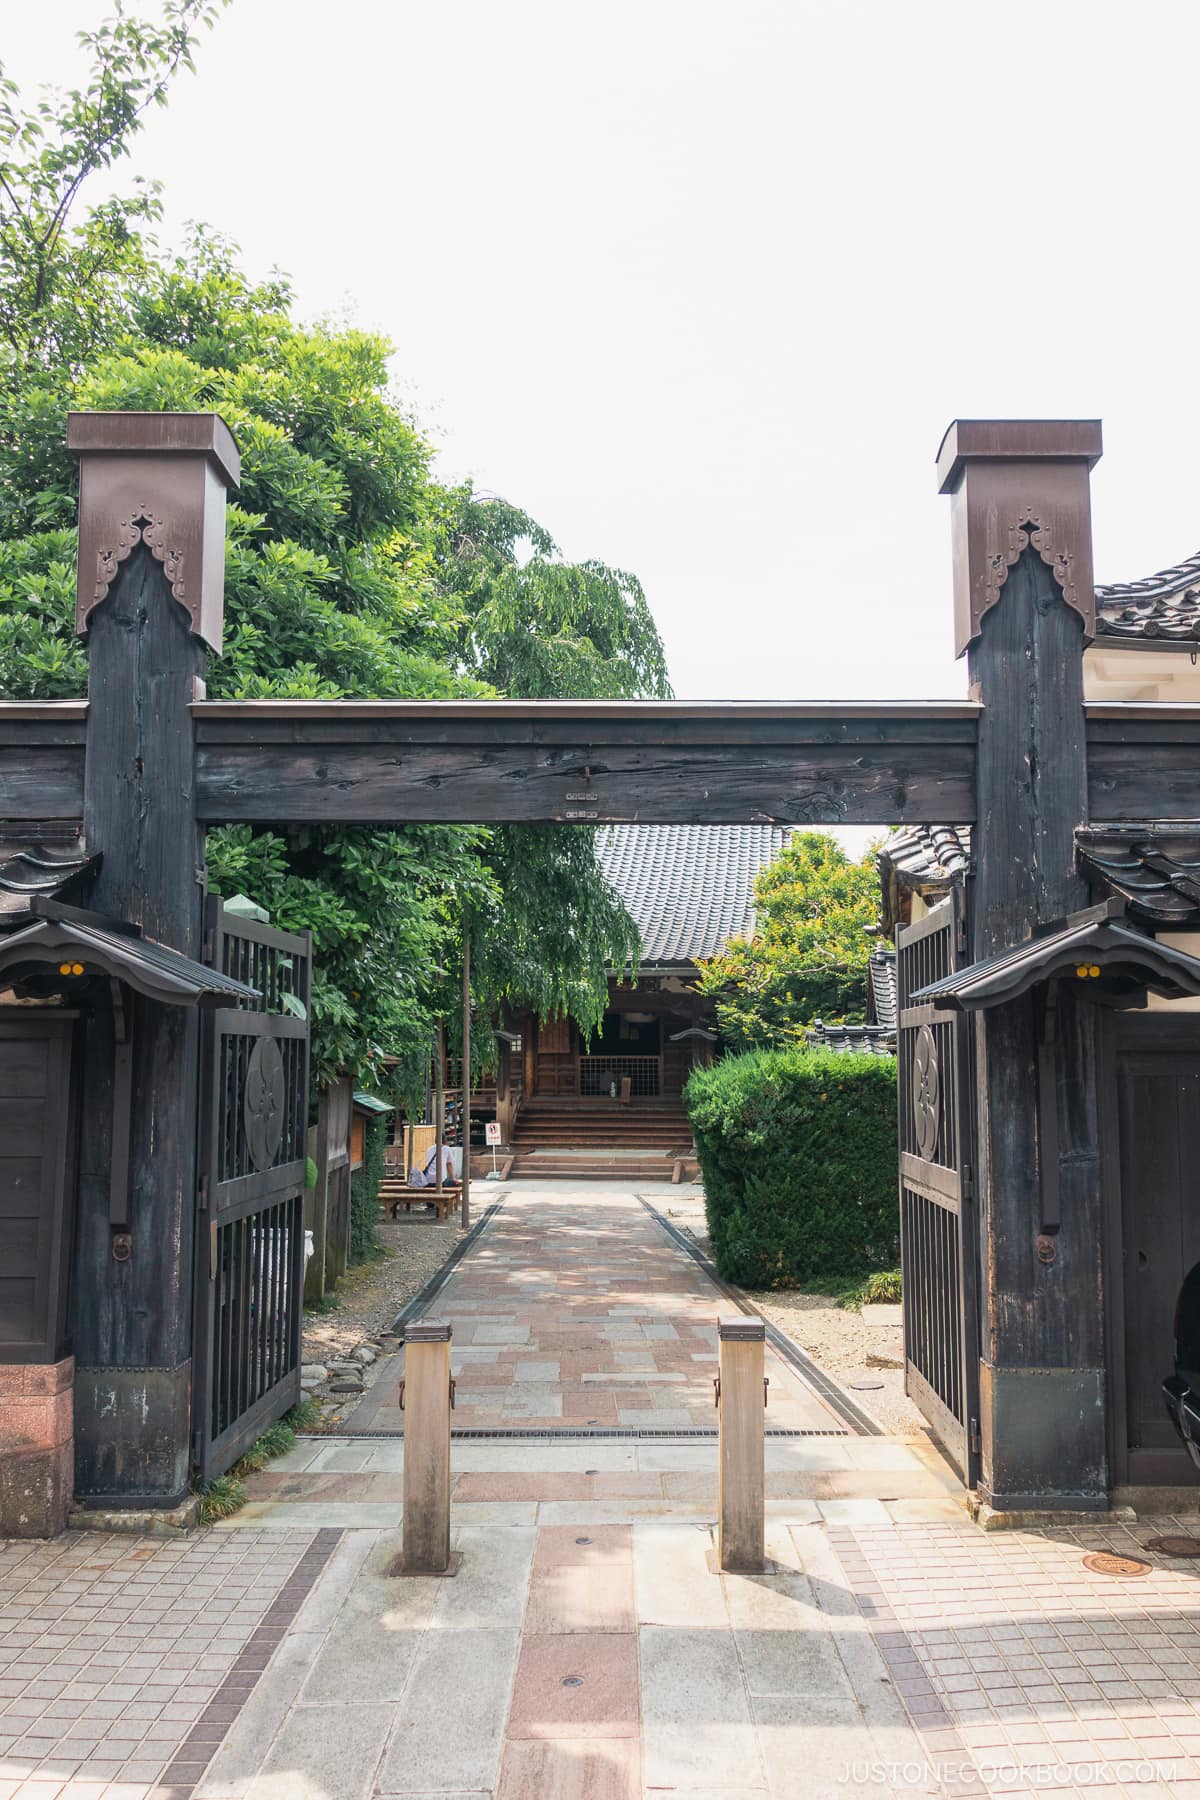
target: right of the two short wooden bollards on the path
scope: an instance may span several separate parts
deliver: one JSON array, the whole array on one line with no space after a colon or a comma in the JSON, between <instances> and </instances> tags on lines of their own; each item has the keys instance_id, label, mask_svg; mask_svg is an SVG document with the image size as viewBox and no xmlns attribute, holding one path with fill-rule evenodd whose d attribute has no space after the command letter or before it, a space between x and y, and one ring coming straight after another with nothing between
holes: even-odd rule
<instances>
[{"instance_id":1,"label":"right of the two short wooden bollards on the path","mask_svg":"<svg viewBox=\"0 0 1200 1800\"><path fill-rule=\"evenodd\" d=\"M761 1319L718 1319L716 1334L721 1352L716 1388L721 1436L716 1557L723 1570L757 1571L765 1557L766 1327Z\"/></svg>"}]
</instances>

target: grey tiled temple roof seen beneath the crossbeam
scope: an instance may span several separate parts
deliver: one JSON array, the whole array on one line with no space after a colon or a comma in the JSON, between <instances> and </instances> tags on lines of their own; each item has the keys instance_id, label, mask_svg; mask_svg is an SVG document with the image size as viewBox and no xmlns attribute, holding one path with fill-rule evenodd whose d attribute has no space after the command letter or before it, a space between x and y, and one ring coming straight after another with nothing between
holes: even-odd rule
<instances>
[{"instance_id":1,"label":"grey tiled temple roof seen beneath the crossbeam","mask_svg":"<svg viewBox=\"0 0 1200 1800\"><path fill-rule=\"evenodd\" d=\"M596 855L642 934L642 961L694 963L754 929L754 877L779 824L604 824Z\"/></svg>"}]
</instances>

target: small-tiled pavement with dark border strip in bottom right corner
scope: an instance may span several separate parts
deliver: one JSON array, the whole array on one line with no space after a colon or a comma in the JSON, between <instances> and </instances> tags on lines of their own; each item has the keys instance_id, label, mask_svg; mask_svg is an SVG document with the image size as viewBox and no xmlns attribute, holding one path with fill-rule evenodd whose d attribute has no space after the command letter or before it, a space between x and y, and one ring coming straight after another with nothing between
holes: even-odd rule
<instances>
[{"instance_id":1,"label":"small-tiled pavement with dark border strip in bottom right corner","mask_svg":"<svg viewBox=\"0 0 1200 1800\"><path fill-rule=\"evenodd\" d=\"M1200 1521L984 1534L846 1530L835 1548L925 1755L959 1795L1200 1800ZM1150 1562L1114 1577L1088 1552Z\"/></svg>"}]
</instances>

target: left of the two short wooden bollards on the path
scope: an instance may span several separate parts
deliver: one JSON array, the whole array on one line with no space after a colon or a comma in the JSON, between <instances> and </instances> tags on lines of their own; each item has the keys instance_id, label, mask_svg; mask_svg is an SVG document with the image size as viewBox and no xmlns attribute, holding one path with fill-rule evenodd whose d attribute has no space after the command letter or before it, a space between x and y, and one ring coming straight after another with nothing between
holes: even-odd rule
<instances>
[{"instance_id":1,"label":"left of the two short wooden bollards on the path","mask_svg":"<svg viewBox=\"0 0 1200 1800\"><path fill-rule=\"evenodd\" d=\"M405 1575L450 1570L450 1337L448 1319L405 1327Z\"/></svg>"}]
</instances>

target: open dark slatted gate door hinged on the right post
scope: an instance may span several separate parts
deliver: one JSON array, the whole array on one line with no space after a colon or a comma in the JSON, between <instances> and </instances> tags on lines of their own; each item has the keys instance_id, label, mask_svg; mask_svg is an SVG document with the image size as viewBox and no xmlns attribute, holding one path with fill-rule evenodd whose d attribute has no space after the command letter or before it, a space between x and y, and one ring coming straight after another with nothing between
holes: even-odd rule
<instances>
[{"instance_id":1,"label":"open dark slatted gate door hinged on the right post","mask_svg":"<svg viewBox=\"0 0 1200 1800\"><path fill-rule=\"evenodd\" d=\"M979 1316L970 1021L910 995L966 959L964 891L896 932L905 1391L977 1478Z\"/></svg>"}]
</instances>

